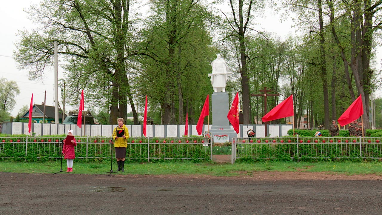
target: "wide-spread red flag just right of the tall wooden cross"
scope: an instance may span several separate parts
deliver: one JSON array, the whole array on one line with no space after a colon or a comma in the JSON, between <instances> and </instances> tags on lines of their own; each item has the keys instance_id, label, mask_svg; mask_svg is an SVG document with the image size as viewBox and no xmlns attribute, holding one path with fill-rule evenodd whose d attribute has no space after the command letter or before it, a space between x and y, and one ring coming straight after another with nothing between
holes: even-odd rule
<instances>
[{"instance_id":1,"label":"wide-spread red flag just right of the tall wooden cross","mask_svg":"<svg viewBox=\"0 0 382 215\"><path fill-rule=\"evenodd\" d=\"M268 122L284 117L293 116L293 94L285 99L282 103L278 104L272 110L270 110L265 116L261 118L263 122Z\"/></svg>"}]
</instances>

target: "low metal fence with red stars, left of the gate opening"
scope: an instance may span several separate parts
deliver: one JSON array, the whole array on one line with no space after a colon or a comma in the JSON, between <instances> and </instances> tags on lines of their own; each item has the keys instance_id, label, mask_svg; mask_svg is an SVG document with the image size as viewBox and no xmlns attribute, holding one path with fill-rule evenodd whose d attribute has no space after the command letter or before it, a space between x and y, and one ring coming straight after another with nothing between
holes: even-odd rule
<instances>
[{"instance_id":1,"label":"low metal fence with red stars, left of the gate opening","mask_svg":"<svg viewBox=\"0 0 382 215\"><path fill-rule=\"evenodd\" d=\"M62 140L58 137L1 137L1 158L61 158ZM76 137L76 158L110 158L110 138ZM113 155L114 157L114 155ZM208 138L130 138L127 159L211 159Z\"/></svg>"}]
</instances>

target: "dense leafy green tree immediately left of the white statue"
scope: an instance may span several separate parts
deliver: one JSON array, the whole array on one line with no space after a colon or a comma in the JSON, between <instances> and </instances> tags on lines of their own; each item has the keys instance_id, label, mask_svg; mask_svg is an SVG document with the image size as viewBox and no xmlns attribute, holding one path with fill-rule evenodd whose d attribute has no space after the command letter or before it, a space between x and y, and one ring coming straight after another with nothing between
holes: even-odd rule
<instances>
[{"instance_id":1,"label":"dense leafy green tree immediately left of the white statue","mask_svg":"<svg viewBox=\"0 0 382 215\"><path fill-rule=\"evenodd\" d=\"M189 103L205 98L210 86L211 38L206 23L212 15L202 1L151 3L153 15L142 31L147 57L141 60L140 91L160 105L163 124L183 124L185 109L192 107Z\"/></svg>"}]
</instances>

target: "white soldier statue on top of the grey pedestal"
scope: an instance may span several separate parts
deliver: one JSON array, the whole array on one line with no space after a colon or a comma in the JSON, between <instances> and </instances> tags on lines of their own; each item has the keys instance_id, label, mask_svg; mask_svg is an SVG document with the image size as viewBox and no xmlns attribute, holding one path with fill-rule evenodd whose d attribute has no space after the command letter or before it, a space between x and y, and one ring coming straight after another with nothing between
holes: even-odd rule
<instances>
[{"instance_id":1,"label":"white soldier statue on top of the grey pedestal","mask_svg":"<svg viewBox=\"0 0 382 215\"><path fill-rule=\"evenodd\" d=\"M216 59L212 61L212 73L208 74L211 77L211 84L215 92L225 92L225 85L227 83L228 74L230 73L230 68L220 54L216 55Z\"/></svg>"}]
</instances>

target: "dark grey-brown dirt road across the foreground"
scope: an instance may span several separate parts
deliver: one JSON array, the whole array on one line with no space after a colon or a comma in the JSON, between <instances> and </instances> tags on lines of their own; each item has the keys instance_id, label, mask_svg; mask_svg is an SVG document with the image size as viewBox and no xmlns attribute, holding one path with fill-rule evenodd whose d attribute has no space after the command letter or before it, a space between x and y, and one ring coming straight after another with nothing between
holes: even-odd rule
<instances>
[{"instance_id":1,"label":"dark grey-brown dirt road across the foreground","mask_svg":"<svg viewBox=\"0 0 382 215\"><path fill-rule=\"evenodd\" d=\"M0 214L381 214L382 176L0 172Z\"/></svg>"}]
</instances>

